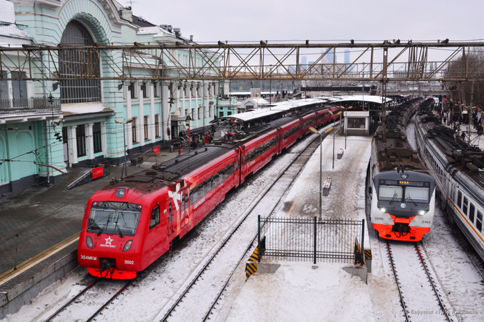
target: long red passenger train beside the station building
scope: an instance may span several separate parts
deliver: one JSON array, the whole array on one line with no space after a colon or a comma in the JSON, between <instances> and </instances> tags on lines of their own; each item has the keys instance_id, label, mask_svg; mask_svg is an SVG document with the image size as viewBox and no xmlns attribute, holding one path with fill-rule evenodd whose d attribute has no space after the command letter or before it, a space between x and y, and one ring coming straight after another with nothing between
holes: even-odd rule
<instances>
[{"instance_id":1,"label":"long red passenger train beside the station building","mask_svg":"<svg viewBox=\"0 0 484 322\"><path fill-rule=\"evenodd\" d=\"M338 118L339 108L283 117L233 142L165 162L100 189L89 198L78 245L79 265L93 276L134 278L195 227L251 173L309 131ZM334 113L334 115L332 113Z\"/></svg>"}]
</instances>

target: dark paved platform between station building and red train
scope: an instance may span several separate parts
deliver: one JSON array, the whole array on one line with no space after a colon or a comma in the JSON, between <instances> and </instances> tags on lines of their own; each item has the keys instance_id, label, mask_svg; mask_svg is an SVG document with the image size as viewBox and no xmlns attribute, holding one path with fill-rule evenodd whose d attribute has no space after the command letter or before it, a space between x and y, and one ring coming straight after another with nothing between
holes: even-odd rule
<instances>
[{"instance_id":1,"label":"dark paved platform between station building and red train","mask_svg":"<svg viewBox=\"0 0 484 322\"><path fill-rule=\"evenodd\" d=\"M186 153L188 150L183 150ZM178 151L161 150L128 174L170 160ZM84 206L91 195L120 178L123 167L110 167L110 175L68 190L88 168L68 168L51 187L33 187L0 198L0 319L17 312L45 287L77 267L77 246Z\"/></svg>"}]
</instances>

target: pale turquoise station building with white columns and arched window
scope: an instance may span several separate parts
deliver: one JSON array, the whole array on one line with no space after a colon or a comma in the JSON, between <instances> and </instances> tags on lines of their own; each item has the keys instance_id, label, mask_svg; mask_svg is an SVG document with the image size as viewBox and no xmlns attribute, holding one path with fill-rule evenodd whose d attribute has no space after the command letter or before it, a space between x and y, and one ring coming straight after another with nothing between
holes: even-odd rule
<instances>
[{"instance_id":1,"label":"pale turquoise station building with white columns and arched window","mask_svg":"<svg viewBox=\"0 0 484 322\"><path fill-rule=\"evenodd\" d=\"M156 26L113 0L0 0L1 47L176 41L193 43L192 36L181 37L179 28ZM182 66L218 64L212 54L190 55L179 49L170 54ZM125 147L129 155L136 155L169 144L188 115L192 128L217 117L218 82L143 81L148 73L142 64L129 66L129 73L138 76L136 82L69 80L82 68L92 68L98 77L127 72L119 69L123 66L121 50L105 57L85 50L65 50L53 57L41 50L35 57L38 64L23 64L26 57L22 55L3 52L0 61L0 196L33 184L52 184L69 167L118 164L124 160ZM173 73L173 58L166 56L160 75ZM147 64L154 66L155 61L154 55L145 57ZM46 75L53 70L44 70L46 64L58 66L55 75ZM17 80L30 75L67 80Z\"/></svg>"}]
</instances>

